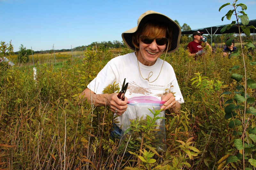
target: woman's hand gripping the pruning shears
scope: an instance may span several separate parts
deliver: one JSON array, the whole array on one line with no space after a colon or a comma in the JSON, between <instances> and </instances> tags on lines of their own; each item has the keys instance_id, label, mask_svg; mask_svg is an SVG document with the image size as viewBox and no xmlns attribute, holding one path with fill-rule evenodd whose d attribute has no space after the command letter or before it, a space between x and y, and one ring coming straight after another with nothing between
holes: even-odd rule
<instances>
[{"instance_id":1,"label":"woman's hand gripping the pruning shears","mask_svg":"<svg viewBox=\"0 0 256 170\"><path fill-rule=\"evenodd\" d=\"M117 115L122 115L127 109L128 99L125 97L124 101L118 99L118 93L109 94L107 97L107 105L110 107L111 111Z\"/></svg>"}]
</instances>

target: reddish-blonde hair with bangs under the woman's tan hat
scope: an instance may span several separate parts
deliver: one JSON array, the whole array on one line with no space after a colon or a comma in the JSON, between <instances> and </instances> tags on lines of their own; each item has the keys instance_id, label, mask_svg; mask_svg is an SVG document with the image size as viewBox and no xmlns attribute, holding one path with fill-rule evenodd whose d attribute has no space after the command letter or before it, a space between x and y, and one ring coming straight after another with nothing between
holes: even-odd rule
<instances>
[{"instance_id":1,"label":"reddish-blonde hair with bangs under the woman's tan hat","mask_svg":"<svg viewBox=\"0 0 256 170\"><path fill-rule=\"evenodd\" d=\"M172 40L172 33L171 33L171 28L168 28L164 23L158 21L158 20L148 20L145 23L141 23L138 30L133 33L132 35L132 44L134 45L135 48L139 49L139 39L140 35L147 35L151 38L158 38L163 35L168 38L169 46L167 49L167 45L165 47L165 50L169 50L171 48L171 40ZM164 51L165 51L164 50Z\"/></svg>"}]
</instances>

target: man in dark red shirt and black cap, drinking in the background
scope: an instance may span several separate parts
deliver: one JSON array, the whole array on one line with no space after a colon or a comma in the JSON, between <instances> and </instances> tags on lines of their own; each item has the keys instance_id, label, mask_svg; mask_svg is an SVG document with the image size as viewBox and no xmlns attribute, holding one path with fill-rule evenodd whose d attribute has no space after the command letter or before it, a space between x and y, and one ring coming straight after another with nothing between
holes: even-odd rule
<instances>
[{"instance_id":1,"label":"man in dark red shirt and black cap, drinking in the background","mask_svg":"<svg viewBox=\"0 0 256 170\"><path fill-rule=\"evenodd\" d=\"M193 33L194 41L189 42L187 46L189 51L189 56L193 56L195 59L197 58L198 55L204 54L202 43L205 43L205 45L209 46L212 49L210 44L208 44L206 37L202 35L203 33L200 33L199 31L195 31Z\"/></svg>"}]
</instances>

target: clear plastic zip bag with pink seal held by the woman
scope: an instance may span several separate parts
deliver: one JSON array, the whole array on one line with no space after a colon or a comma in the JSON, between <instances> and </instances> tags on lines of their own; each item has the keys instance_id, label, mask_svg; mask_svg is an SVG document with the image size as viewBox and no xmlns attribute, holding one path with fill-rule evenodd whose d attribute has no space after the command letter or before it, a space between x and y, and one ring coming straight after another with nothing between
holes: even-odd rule
<instances>
[{"instance_id":1,"label":"clear plastic zip bag with pink seal held by the woman","mask_svg":"<svg viewBox=\"0 0 256 170\"><path fill-rule=\"evenodd\" d=\"M166 151L165 111L160 111L164 101L152 96L132 97L122 122L122 134L119 151L138 151L146 144L159 152Z\"/></svg>"}]
</instances>

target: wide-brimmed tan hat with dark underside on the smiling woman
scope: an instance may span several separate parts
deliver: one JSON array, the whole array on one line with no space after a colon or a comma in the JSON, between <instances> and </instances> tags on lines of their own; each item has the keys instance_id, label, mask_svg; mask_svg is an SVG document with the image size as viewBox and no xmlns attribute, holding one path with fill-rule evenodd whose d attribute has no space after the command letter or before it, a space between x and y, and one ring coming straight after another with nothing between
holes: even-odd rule
<instances>
[{"instance_id":1,"label":"wide-brimmed tan hat with dark underside on the smiling woman","mask_svg":"<svg viewBox=\"0 0 256 170\"><path fill-rule=\"evenodd\" d=\"M180 45L180 26L171 18L155 11L146 11L145 13L141 14L138 19L137 26L122 33L123 41L127 45L127 47L135 51L135 47L132 44L132 35L138 30L140 23L144 23L147 20L158 20L168 26L168 31L172 32L172 41L171 44L169 44L171 48L167 51L167 53L177 51ZM171 30L169 30L170 28Z\"/></svg>"}]
</instances>

